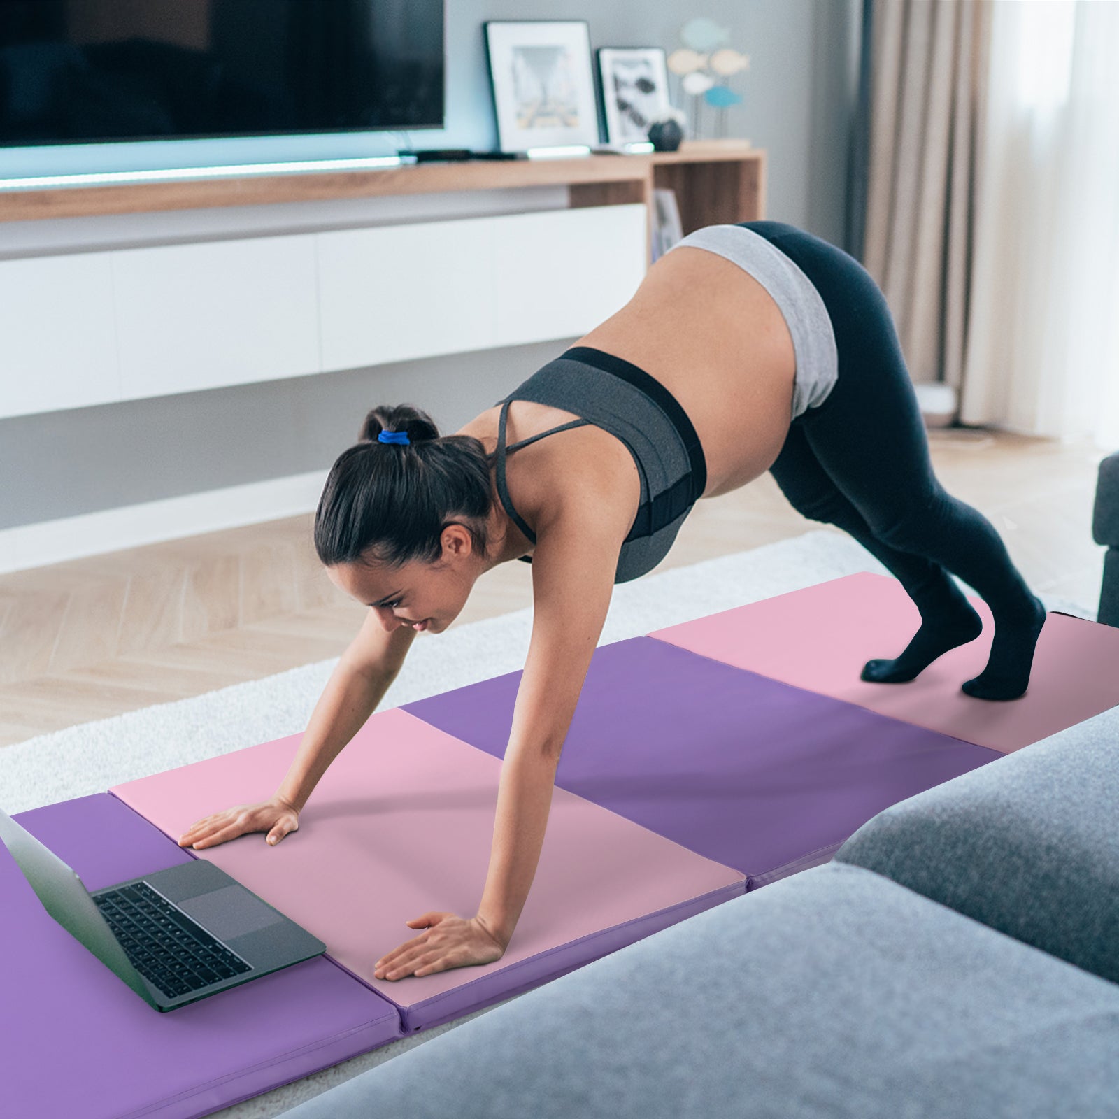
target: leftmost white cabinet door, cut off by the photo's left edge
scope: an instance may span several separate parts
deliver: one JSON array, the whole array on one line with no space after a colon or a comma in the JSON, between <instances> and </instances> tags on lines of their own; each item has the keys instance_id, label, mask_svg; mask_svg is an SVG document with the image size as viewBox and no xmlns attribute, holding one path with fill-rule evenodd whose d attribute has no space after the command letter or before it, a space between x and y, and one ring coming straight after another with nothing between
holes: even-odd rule
<instances>
[{"instance_id":1,"label":"leftmost white cabinet door, cut off by the photo's left edge","mask_svg":"<svg viewBox=\"0 0 1119 1119\"><path fill-rule=\"evenodd\" d=\"M119 398L109 257L0 261L0 416Z\"/></svg>"}]
</instances>

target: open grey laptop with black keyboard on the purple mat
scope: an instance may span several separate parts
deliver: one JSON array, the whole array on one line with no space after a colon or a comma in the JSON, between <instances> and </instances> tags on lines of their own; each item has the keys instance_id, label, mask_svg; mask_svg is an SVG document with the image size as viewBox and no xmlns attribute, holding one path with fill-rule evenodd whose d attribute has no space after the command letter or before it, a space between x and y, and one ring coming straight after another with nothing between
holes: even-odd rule
<instances>
[{"instance_id":1,"label":"open grey laptop with black keyboard on the purple mat","mask_svg":"<svg viewBox=\"0 0 1119 1119\"><path fill-rule=\"evenodd\" d=\"M175 1010L327 946L205 858L90 893L0 809L0 840L46 911L157 1010Z\"/></svg>"}]
</instances>

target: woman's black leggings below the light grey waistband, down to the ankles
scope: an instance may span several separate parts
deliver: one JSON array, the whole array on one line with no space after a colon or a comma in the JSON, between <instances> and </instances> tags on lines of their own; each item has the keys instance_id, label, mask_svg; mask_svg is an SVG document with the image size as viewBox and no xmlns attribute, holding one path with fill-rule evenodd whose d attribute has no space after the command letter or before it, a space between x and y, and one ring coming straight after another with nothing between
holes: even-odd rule
<instances>
[{"instance_id":1,"label":"woman's black leggings below the light grey waistband, down to the ankles","mask_svg":"<svg viewBox=\"0 0 1119 1119\"><path fill-rule=\"evenodd\" d=\"M741 224L808 276L835 331L838 380L819 407L792 421L770 468L792 507L858 540L897 577L924 619L958 608L961 594L948 572L984 599L996 622L1027 614L1033 595L995 526L933 474L916 393L871 274L794 226Z\"/></svg>"}]
</instances>

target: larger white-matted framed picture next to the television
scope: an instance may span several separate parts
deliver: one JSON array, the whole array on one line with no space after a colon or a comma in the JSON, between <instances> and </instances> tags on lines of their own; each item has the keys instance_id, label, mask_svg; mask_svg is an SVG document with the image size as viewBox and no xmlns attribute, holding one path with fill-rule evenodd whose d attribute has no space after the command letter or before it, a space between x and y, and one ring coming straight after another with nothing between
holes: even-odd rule
<instances>
[{"instance_id":1,"label":"larger white-matted framed picture next to the television","mask_svg":"<svg viewBox=\"0 0 1119 1119\"><path fill-rule=\"evenodd\" d=\"M501 151L599 144L586 20L487 20Z\"/></svg>"}]
</instances>

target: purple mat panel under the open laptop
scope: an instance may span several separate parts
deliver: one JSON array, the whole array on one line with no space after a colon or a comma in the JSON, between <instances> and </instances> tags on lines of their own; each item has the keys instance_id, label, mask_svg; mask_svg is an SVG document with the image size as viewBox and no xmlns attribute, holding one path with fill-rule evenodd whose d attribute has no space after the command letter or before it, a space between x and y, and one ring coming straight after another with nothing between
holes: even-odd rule
<instances>
[{"instance_id":1,"label":"purple mat panel under the open laptop","mask_svg":"<svg viewBox=\"0 0 1119 1119\"><path fill-rule=\"evenodd\" d=\"M192 857L109 793L16 819L88 890ZM322 957L160 1013L50 918L2 844L0 906L12 1119L195 1119L402 1035L385 999Z\"/></svg>"}]
</instances>

